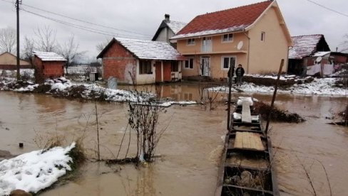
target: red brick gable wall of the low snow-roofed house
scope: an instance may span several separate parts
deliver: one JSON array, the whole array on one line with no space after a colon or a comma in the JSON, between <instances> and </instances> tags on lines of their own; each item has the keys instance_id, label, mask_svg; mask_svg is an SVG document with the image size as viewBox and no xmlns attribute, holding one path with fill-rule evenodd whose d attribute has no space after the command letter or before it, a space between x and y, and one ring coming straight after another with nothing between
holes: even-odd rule
<instances>
[{"instance_id":1,"label":"red brick gable wall of the low snow-roofed house","mask_svg":"<svg viewBox=\"0 0 348 196\"><path fill-rule=\"evenodd\" d=\"M136 59L122 45L113 43L103 55L103 79L116 77L120 82L128 82L127 65L136 65ZM135 77L135 69L132 70L132 75Z\"/></svg>"}]
</instances>

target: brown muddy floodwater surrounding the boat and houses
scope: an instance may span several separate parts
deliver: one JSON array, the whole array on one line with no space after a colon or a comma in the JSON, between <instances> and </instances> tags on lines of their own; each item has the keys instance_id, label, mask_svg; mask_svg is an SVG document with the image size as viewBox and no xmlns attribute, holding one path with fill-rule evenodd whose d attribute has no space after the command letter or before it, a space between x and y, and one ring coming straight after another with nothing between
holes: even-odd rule
<instances>
[{"instance_id":1,"label":"brown muddy floodwater surrounding the boat and houses","mask_svg":"<svg viewBox=\"0 0 348 196\"><path fill-rule=\"evenodd\" d=\"M161 96L198 100L192 86L168 86ZM270 95L234 94L270 102ZM220 96L220 95L219 95ZM220 98L224 99L225 95ZM302 124L271 123L273 153L281 195L347 195L348 129L327 124L327 117L347 105L346 97L278 95L277 107L296 112ZM128 143L127 104L99 103L101 158L116 158L125 131ZM12 154L44 147L47 138L59 137L65 145L83 138L89 160L73 180L40 195L214 195L226 131L226 106L214 104L172 106L160 116L165 132L154 163L106 166L96 162L95 105L53 98L44 94L0 92L0 150ZM133 141L133 133L131 141ZM24 148L19 148L24 143ZM119 157L126 154L127 144ZM135 153L131 143L128 155ZM328 180L327 180L328 179ZM329 182L329 183L328 183Z\"/></svg>"}]
</instances>

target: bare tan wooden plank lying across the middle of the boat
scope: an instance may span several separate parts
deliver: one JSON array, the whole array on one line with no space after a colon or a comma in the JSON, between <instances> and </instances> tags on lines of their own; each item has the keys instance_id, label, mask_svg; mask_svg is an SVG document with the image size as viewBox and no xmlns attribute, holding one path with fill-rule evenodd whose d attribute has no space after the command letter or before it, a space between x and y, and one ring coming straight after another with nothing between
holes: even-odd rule
<instances>
[{"instance_id":1,"label":"bare tan wooden plank lying across the middle of the boat","mask_svg":"<svg viewBox=\"0 0 348 196\"><path fill-rule=\"evenodd\" d=\"M251 132L236 132L233 148L252 149L255 151L265 151L260 134Z\"/></svg>"}]
</instances>

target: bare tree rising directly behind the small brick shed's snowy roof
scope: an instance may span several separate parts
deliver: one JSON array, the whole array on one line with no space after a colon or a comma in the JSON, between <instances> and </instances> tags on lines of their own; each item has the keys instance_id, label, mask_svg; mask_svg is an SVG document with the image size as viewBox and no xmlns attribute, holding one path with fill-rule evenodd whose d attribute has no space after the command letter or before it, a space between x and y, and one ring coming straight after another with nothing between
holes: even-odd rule
<instances>
[{"instance_id":1,"label":"bare tree rising directly behind the small brick shed's snowy roof","mask_svg":"<svg viewBox=\"0 0 348 196\"><path fill-rule=\"evenodd\" d=\"M42 52L55 52L57 49L56 30L50 26L44 28L36 28L34 30L36 39L34 39L35 49Z\"/></svg>"}]
</instances>

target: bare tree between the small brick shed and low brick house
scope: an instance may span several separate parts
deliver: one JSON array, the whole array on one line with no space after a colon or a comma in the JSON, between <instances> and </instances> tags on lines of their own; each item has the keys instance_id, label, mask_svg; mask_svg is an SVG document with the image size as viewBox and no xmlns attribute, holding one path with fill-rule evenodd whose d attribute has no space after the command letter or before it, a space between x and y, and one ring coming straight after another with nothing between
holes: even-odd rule
<instances>
[{"instance_id":1,"label":"bare tree between the small brick shed and low brick house","mask_svg":"<svg viewBox=\"0 0 348 196\"><path fill-rule=\"evenodd\" d=\"M66 73L68 73L68 67L71 65L71 63L78 58L81 58L86 53L86 51L79 52L78 47L79 45L76 43L75 36L73 34L71 34L66 43L63 43L63 45L58 45L58 53L67 60L65 66Z\"/></svg>"}]
</instances>

